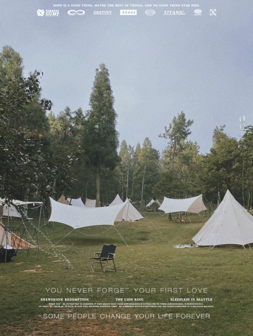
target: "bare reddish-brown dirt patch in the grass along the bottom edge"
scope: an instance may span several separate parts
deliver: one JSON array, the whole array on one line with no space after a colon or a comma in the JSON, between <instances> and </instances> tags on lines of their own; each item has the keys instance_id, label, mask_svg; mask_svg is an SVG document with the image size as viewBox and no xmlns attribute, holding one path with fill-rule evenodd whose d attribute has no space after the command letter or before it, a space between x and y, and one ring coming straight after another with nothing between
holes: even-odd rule
<instances>
[{"instance_id":1,"label":"bare reddish-brown dirt patch in the grass along the bottom edge","mask_svg":"<svg viewBox=\"0 0 253 336\"><path fill-rule=\"evenodd\" d=\"M0 326L0 335L8 336L115 336L118 332L119 330L113 330L109 323L104 323L101 328L98 323L90 320L44 320L42 316L20 325L8 323Z\"/></svg>"}]
</instances>

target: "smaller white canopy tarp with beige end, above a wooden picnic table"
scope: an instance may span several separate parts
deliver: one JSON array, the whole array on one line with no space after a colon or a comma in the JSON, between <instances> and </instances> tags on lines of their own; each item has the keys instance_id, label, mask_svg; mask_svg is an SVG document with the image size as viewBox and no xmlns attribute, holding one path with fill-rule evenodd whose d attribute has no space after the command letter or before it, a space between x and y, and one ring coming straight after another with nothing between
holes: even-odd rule
<instances>
[{"instance_id":1,"label":"smaller white canopy tarp with beige end, above a wooden picnic table","mask_svg":"<svg viewBox=\"0 0 253 336\"><path fill-rule=\"evenodd\" d=\"M193 212L199 213L200 211L207 210L203 200L202 194L196 197L183 198L183 199L173 199L164 197L163 203L159 210L163 210L165 213L170 212Z\"/></svg>"}]
</instances>

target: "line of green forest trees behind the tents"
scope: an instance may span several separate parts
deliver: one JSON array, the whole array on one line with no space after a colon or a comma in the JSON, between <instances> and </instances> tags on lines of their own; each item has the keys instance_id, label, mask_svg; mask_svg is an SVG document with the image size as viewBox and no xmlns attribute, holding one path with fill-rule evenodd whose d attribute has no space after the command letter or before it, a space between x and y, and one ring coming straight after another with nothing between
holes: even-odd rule
<instances>
[{"instance_id":1,"label":"line of green forest trees behind the tents","mask_svg":"<svg viewBox=\"0 0 253 336\"><path fill-rule=\"evenodd\" d=\"M57 114L41 96L43 73L23 77L22 58L10 46L0 53L0 197L28 200L95 199L109 204L117 194L144 210L151 198L203 194L221 202L227 189L247 209L253 193L253 127L240 140L213 130L210 153L188 139L193 120L182 112L161 125L167 146L159 153L148 137L119 144L117 114L108 69L95 70L89 110L66 107ZM37 196L35 196L37 195Z\"/></svg>"}]
</instances>

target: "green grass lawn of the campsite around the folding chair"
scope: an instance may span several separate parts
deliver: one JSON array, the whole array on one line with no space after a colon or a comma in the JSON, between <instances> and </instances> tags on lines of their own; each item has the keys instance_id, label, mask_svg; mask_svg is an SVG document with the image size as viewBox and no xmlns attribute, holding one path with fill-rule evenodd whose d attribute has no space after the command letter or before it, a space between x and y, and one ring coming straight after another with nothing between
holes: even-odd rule
<instances>
[{"instance_id":1,"label":"green grass lawn of the campsite around the folding chair","mask_svg":"<svg viewBox=\"0 0 253 336\"><path fill-rule=\"evenodd\" d=\"M67 235L72 230L67 225L44 225L43 233L53 244L67 235L56 245L57 249L65 250L61 253L73 268L70 266L65 270L66 261L31 249L29 257L23 250L10 263L0 264L0 335L253 335L253 252L249 248L175 249L173 245L193 243L191 238L206 218L192 215L192 223L183 224L168 223L167 217L159 213L145 214L147 219L139 222L117 223L116 228L125 237L128 247L114 227L91 226ZM38 217L33 221L38 224ZM6 225L7 220L4 219L3 223ZM22 222L12 220L9 225L22 226ZM26 223L26 226L29 224ZM94 252L101 252L104 243L117 243L117 271L91 273L89 258ZM42 235L39 235L39 245L52 252ZM47 292L46 288L50 290ZM52 288L61 289L61 293L52 293ZM78 293L77 290L77 293L70 294L66 293L67 288L92 288L92 293ZM107 293L102 292L103 288ZM125 293L108 293L108 288L129 289ZM139 292L140 288L144 289L144 293ZM151 288L155 289L155 293L154 290L145 293ZM161 293L161 288L174 288L177 292ZM203 288L206 288L206 293L203 293ZM192 293L195 289L197 293ZM73 297L88 298L89 303L113 303L114 307L39 307L48 305L42 303L41 298L64 300ZM142 302L153 303L153 307L119 307L121 303L116 298L139 298L143 299ZM171 299L179 298L212 298L204 305L213 307L166 306L165 303L174 302ZM64 318L43 318L43 314L58 313L62 313ZM75 313L93 313L96 318L67 318L68 314ZM142 313L147 318L142 318ZM170 318L158 318L163 313L170 314ZM204 316L209 314L210 318L197 319L200 313ZM101 318L100 314L110 314L110 318L103 318L103 315ZM112 318L112 314L130 314L131 318ZM195 319L186 319L181 314L196 315Z\"/></svg>"}]
</instances>

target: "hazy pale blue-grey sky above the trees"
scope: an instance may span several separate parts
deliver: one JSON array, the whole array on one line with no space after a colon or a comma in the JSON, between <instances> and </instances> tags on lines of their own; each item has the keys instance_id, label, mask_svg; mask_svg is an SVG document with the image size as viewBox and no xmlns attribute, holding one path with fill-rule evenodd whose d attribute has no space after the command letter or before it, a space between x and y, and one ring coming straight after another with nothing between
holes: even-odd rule
<instances>
[{"instance_id":1,"label":"hazy pale blue-grey sky above the trees","mask_svg":"<svg viewBox=\"0 0 253 336\"><path fill-rule=\"evenodd\" d=\"M181 111L193 119L188 139L203 154L216 126L225 124L225 132L239 139L239 118L253 124L250 2L57 1L0 3L0 48L10 45L20 54L24 76L43 71L42 96L52 100L55 115L66 106L89 109L103 62L120 143L142 145L148 137L161 153L167 142L159 134ZM50 10L58 15L46 15Z\"/></svg>"}]
</instances>

